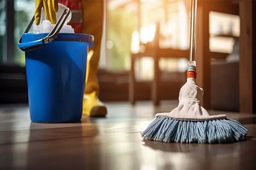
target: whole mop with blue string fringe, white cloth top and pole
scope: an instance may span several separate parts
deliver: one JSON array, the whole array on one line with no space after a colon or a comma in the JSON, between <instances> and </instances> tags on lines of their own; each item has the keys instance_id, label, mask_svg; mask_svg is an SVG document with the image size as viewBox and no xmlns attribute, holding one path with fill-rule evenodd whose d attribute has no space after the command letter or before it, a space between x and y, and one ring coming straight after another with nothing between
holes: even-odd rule
<instances>
[{"instance_id":1,"label":"whole mop with blue string fringe, white cloth top and pole","mask_svg":"<svg viewBox=\"0 0 256 170\"><path fill-rule=\"evenodd\" d=\"M169 113L158 113L141 133L145 140L180 143L231 143L246 139L247 129L226 115L209 115L201 107L203 89L196 83L197 0L192 0L190 61L187 82L179 93L179 105Z\"/></svg>"}]
</instances>

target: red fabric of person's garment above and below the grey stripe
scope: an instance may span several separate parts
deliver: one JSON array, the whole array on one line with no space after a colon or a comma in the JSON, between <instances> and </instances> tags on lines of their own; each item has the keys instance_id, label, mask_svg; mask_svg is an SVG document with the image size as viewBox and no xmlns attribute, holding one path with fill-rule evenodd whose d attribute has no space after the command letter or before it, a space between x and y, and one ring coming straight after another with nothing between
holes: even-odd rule
<instances>
[{"instance_id":1,"label":"red fabric of person's garment above and below the grey stripe","mask_svg":"<svg viewBox=\"0 0 256 170\"><path fill-rule=\"evenodd\" d=\"M59 0L59 3L67 6L70 10L82 10L81 0ZM75 33L82 33L82 23L69 23L74 28Z\"/></svg>"}]
</instances>

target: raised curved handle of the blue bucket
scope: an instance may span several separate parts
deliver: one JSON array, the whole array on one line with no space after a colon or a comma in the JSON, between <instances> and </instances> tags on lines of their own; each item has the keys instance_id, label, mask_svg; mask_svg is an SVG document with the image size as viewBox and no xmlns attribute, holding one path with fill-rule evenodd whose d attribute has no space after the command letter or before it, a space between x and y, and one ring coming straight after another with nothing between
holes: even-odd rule
<instances>
[{"instance_id":1,"label":"raised curved handle of the blue bucket","mask_svg":"<svg viewBox=\"0 0 256 170\"><path fill-rule=\"evenodd\" d=\"M37 48L40 48L41 46L44 46L46 44L48 44L49 42L53 41L54 38L57 37L57 35L59 34L61 28L63 27L65 21L67 20L67 17L69 16L70 14L70 9L69 8L66 8L63 13L61 14L59 20L57 21L56 25L54 26L53 30L51 30L51 32L46 36L44 37L43 39L39 39L39 40L36 40L36 41L31 41L31 42L21 42L21 38L22 38L22 35L20 37L20 41L18 43L18 46L19 48L22 50L22 51L33 51ZM63 19L64 17L64 19ZM34 17L31 19L29 25L27 26L24 34L28 33L32 24L34 22Z\"/></svg>"}]
</instances>

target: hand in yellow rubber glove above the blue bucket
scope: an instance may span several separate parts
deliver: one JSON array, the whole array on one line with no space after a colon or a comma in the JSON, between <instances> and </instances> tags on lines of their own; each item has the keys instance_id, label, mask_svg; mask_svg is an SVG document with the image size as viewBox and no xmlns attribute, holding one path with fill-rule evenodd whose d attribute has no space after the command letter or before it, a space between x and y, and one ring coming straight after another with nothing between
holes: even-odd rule
<instances>
[{"instance_id":1,"label":"hand in yellow rubber glove above the blue bucket","mask_svg":"<svg viewBox=\"0 0 256 170\"><path fill-rule=\"evenodd\" d=\"M41 10L44 8L46 19L51 24L56 24L56 13L58 12L58 0L36 0L35 22L40 24Z\"/></svg>"}]
</instances>

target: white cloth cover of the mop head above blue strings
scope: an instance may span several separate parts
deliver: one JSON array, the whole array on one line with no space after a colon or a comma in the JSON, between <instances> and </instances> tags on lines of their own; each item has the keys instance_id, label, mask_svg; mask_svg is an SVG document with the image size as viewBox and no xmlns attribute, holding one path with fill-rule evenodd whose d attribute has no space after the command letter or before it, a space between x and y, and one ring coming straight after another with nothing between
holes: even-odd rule
<instances>
[{"instance_id":1,"label":"white cloth cover of the mop head above blue strings","mask_svg":"<svg viewBox=\"0 0 256 170\"><path fill-rule=\"evenodd\" d=\"M180 89L179 105L170 113L158 113L156 117L168 117L177 120L205 121L213 119L225 119L226 115L212 115L201 107L200 99L203 96L203 89L197 86L196 80L188 78L187 82Z\"/></svg>"}]
</instances>

